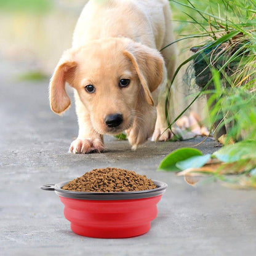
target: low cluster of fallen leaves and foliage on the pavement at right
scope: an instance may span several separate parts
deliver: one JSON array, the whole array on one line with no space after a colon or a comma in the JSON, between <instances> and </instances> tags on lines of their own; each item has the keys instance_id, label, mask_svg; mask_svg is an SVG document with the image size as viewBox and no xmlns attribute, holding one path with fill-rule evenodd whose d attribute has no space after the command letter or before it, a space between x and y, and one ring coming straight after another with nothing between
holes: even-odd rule
<instances>
[{"instance_id":1,"label":"low cluster of fallen leaves and foliage on the pavement at right","mask_svg":"<svg viewBox=\"0 0 256 256\"><path fill-rule=\"evenodd\" d=\"M210 181L214 178L233 187L256 188L256 140L224 146L212 155L202 155L194 148L180 148L162 160L159 170L175 171L190 185L199 181L194 177L207 176Z\"/></svg>"}]
</instances>

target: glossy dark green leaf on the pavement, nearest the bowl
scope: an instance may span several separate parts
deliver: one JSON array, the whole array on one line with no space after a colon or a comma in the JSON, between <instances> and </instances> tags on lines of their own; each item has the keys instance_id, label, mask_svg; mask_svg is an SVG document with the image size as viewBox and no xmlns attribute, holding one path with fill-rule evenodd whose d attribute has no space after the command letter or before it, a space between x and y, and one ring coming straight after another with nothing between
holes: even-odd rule
<instances>
[{"instance_id":1,"label":"glossy dark green leaf on the pavement, nearest the bowl","mask_svg":"<svg viewBox=\"0 0 256 256\"><path fill-rule=\"evenodd\" d=\"M178 150L172 151L166 158L162 159L158 170L168 171L180 171L175 164L185 159L191 158L191 156L202 156L202 152L196 150L196 148L179 148Z\"/></svg>"}]
</instances>

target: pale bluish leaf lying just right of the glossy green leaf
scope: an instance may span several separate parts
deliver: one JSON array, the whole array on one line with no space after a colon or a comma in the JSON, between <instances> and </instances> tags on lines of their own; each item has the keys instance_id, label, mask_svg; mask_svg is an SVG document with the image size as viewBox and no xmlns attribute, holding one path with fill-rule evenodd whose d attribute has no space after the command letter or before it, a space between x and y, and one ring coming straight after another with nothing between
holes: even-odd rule
<instances>
[{"instance_id":1,"label":"pale bluish leaf lying just right of the glossy green leaf","mask_svg":"<svg viewBox=\"0 0 256 256\"><path fill-rule=\"evenodd\" d=\"M176 167L180 170L186 170L188 168L199 168L204 166L206 162L210 159L211 154L205 154L204 156L192 156L183 161L176 163Z\"/></svg>"}]
</instances>

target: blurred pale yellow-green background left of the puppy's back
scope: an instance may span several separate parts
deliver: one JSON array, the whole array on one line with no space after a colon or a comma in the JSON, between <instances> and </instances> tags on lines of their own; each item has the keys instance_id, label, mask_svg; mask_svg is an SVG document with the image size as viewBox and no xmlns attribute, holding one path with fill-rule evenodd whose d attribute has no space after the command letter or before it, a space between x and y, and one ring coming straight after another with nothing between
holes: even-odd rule
<instances>
[{"instance_id":1,"label":"blurred pale yellow-green background left of the puppy's back","mask_svg":"<svg viewBox=\"0 0 256 256\"><path fill-rule=\"evenodd\" d=\"M0 56L50 75L87 0L0 0Z\"/></svg>"}]
</instances>

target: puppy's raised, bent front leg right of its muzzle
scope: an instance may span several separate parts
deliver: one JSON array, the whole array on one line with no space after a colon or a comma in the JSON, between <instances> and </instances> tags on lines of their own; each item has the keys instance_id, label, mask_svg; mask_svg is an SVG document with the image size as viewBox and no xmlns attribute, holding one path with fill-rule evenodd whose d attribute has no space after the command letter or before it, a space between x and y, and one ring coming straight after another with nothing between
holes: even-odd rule
<instances>
[{"instance_id":1,"label":"puppy's raised, bent front leg right of its muzzle","mask_svg":"<svg viewBox=\"0 0 256 256\"><path fill-rule=\"evenodd\" d=\"M132 114L134 115L134 123L130 129L126 130L126 134L132 149L136 150L153 134L156 108L148 105L145 100L141 100Z\"/></svg>"}]
</instances>

